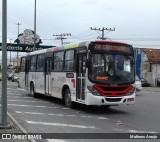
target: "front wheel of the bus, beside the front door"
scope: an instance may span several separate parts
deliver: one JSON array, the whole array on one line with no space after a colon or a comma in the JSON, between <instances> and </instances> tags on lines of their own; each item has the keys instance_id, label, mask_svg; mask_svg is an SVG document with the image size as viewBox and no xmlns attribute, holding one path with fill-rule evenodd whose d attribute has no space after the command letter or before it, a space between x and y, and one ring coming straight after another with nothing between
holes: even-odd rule
<instances>
[{"instance_id":1,"label":"front wheel of the bus, beside the front door","mask_svg":"<svg viewBox=\"0 0 160 142\"><path fill-rule=\"evenodd\" d=\"M73 102L71 100L71 92L69 89L66 89L64 92L64 103L66 107L72 108L73 107Z\"/></svg>"}]
</instances>

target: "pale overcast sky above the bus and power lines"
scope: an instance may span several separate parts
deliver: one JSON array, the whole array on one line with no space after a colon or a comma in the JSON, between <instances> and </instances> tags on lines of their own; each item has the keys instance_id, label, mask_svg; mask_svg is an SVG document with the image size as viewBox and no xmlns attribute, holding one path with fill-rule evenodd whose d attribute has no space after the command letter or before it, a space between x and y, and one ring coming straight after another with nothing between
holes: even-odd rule
<instances>
[{"instance_id":1,"label":"pale overcast sky above the bus and power lines","mask_svg":"<svg viewBox=\"0 0 160 142\"><path fill-rule=\"evenodd\" d=\"M19 32L34 30L35 0L7 0L7 38L14 42ZM2 1L0 3L2 9ZM59 34L70 33L66 43L105 37L134 47L160 49L160 0L36 0L36 32L42 45L60 46ZM0 11L2 17L2 10ZM2 19L0 20L2 27ZM2 28L0 28L0 42ZM12 40L10 40L12 39Z\"/></svg>"}]
</instances>

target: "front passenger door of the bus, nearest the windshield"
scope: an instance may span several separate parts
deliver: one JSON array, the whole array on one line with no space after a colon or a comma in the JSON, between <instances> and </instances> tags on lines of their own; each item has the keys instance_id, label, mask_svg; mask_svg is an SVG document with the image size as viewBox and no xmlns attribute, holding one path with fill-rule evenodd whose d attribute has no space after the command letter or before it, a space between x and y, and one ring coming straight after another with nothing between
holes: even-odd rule
<instances>
[{"instance_id":1,"label":"front passenger door of the bus, nearest the windshield","mask_svg":"<svg viewBox=\"0 0 160 142\"><path fill-rule=\"evenodd\" d=\"M77 100L85 100L86 54L77 55Z\"/></svg>"}]
</instances>

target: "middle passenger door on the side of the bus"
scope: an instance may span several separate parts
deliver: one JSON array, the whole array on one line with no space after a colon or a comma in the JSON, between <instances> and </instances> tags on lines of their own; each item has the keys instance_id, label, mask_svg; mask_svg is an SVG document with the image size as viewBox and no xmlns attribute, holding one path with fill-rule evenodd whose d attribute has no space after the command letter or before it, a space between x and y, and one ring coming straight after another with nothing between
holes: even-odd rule
<instances>
[{"instance_id":1,"label":"middle passenger door on the side of the bus","mask_svg":"<svg viewBox=\"0 0 160 142\"><path fill-rule=\"evenodd\" d=\"M47 95L51 95L51 88L50 88L51 63L52 63L52 58L46 58L46 65L45 65L45 94L47 94Z\"/></svg>"}]
</instances>

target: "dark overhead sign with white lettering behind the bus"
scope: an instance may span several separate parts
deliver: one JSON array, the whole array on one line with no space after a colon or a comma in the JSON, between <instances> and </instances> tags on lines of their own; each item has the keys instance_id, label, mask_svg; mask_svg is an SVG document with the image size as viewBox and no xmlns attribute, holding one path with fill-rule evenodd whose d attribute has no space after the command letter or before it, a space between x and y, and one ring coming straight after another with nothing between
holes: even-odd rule
<instances>
[{"instance_id":1,"label":"dark overhead sign with white lettering behind the bus","mask_svg":"<svg viewBox=\"0 0 160 142\"><path fill-rule=\"evenodd\" d=\"M36 45L35 50L41 50L41 49L46 49L51 47L54 47L54 46ZM7 43L7 51L32 52L33 48L34 48L34 45ZM2 50L2 43L0 43L0 51L1 50Z\"/></svg>"}]
</instances>

